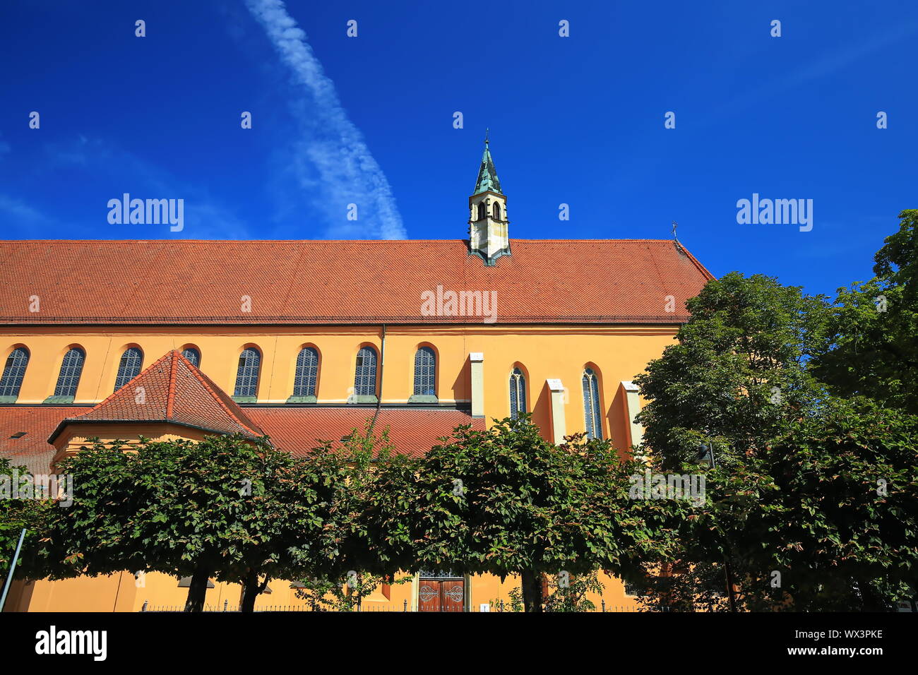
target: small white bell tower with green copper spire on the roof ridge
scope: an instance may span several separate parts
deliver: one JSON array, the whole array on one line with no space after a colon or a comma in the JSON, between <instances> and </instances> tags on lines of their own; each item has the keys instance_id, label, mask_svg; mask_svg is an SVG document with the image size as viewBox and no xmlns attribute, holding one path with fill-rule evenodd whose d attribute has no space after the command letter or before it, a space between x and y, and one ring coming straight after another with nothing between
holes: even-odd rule
<instances>
[{"instance_id":1,"label":"small white bell tower with green copper spire on the roof ridge","mask_svg":"<svg viewBox=\"0 0 918 675\"><path fill-rule=\"evenodd\" d=\"M510 240L507 197L500 190L489 144L486 133L475 193L468 198L468 248L469 254L479 255L485 264L494 265L501 255L510 254Z\"/></svg>"}]
</instances>

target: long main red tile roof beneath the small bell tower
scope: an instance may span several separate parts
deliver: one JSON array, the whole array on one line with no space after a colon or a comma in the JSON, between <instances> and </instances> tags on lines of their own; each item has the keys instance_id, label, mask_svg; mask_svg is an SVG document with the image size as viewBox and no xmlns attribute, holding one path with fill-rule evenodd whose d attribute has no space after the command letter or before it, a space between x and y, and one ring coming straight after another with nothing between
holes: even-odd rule
<instances>
[{"instance_id":1,"label":"long main red tile roof beneath the small bell tower","mask_svg":"<svg viewBox=\"0 0 918 675\"><path fill-rule=\"evenodd\" d=\"M0 242L0 323L479 323L420 294L496 291L498 323L678 323L711 274L671 241ZM38 296L40 311L28 311ZM242 297L251 298L243 312ZM676 299L667 313L666 297Z\"/></svg>"}]
</instances>

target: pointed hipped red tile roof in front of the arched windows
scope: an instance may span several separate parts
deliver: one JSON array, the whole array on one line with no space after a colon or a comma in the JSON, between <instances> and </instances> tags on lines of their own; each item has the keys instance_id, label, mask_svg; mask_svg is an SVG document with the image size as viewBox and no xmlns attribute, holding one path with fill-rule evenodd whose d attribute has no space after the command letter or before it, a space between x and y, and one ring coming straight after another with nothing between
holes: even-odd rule
<instances>
[{"instance_id":1,"label":"pointed hipped red tile roof in front of the arched windows","mask_svg":"<svg viewBox=\"0 0 918 675\"><path fill-rule=\"evenodd\" d=\"M175 422L217 433L263 435L233 399L177 350L162 356L91 410L64 422L125 421Z\"/></svg>"}]
</instances>

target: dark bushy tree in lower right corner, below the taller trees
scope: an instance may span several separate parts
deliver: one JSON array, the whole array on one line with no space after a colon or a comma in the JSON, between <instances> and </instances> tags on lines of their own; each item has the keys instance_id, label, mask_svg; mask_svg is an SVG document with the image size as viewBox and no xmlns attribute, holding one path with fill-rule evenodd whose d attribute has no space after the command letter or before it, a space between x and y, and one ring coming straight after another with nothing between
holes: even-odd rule
<instances>
[{"instance_id":1,"label":"dark bushy tree in lower right corner, below the taller trees","mask_svg":"<svg viewBox=\"0 0 918 675\"><path fill-rule=\"evenodd\" d=\"M694 468L705 502L681 522L675 565L645 561L642 601L727 611L729 563L738 609L890 610L918 594L916 467L918 418L827 399L744 462Z\"/></svg>"}]
</instances>

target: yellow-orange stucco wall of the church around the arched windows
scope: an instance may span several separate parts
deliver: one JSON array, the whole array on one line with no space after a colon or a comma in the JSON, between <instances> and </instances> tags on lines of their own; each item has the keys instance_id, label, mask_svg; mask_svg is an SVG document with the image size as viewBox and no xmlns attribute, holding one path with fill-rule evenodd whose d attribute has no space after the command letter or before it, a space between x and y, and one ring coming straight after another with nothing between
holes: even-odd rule
<instances>
[{"instance_id":1,"label":"yellow-orange stucco wall of the church around the arched windows","mask_svg":"<svg viewBox=\"0 0 918 675\"><path fill-rule=\"evenodd\" d=\"M379 326L345 327L3 327L0 348L6 358L15 347L26 346L29 362L17 403L36 404L54 391L63 355L74 345L86 354L84 371L77 388L76 404L95 404L115 386L118 361L130 346L143 351L143 367L171 349L194 346L201 354L200 367L220 388L232 395L241 350L256 346L262 353L258 385L259 403L283 403L293 391L297 354L306 345L319 350L319 402L345 402L353 393L355 356L364 344L381 343ZM527 378L528 410L533 421L551 429L551 392L547 378L558 378L565 386L565 428L567 433L583 431L584 405L581 376L585 366L599 377L600 406L605 411L603 435L617 447L631 442L622 380L631 380L644 366L673 342L675 327L666 326L388 326L386 329L383 402L405 402L413 391L414 354L420 345L433 347L437 354L437 396L442 402L468 402L471 398L468 355L484 354L484 411L487 421L509 414L509 373L519 366ZM59 451L73 449L95 430L74 429L56 443ZM119 432L122 430L118 430ZM73 433L74 435L69 435ZM75 435L79 433L79 436ZM131 437L129 428L123 437ZM150 431L145 432L150 435ZM191 437L190 430L163 428L163 438ZM172 435L170 435L172 434ZM102 434L112 437L111 433ZM116 433L115 435L118 435ZM554 439L550 439L554 440ZM633 607L621 581L605 578L603 597L610 607ZM129 572L100 579L37 581L17 584L8 609L20 611L139 611L143 602L181 606L186 589L177 580L150 574L137 588ZM482 602L508 601L515 579L501 583L493 577L472 579L470 607L477 611ZM259 598L257 607L303 604L289 582L273 581L271 595ZM367 608L397 609L408 600L416 606L415 583L393 585L389 597L377 591ZM240 601L240 587L216 584L207 591L207 603L222 606ZM599 604L599 599L596 599ZM493 609L492 609L493 611Z\"/></svg>"}]
</instances>

